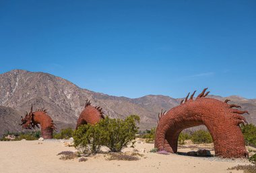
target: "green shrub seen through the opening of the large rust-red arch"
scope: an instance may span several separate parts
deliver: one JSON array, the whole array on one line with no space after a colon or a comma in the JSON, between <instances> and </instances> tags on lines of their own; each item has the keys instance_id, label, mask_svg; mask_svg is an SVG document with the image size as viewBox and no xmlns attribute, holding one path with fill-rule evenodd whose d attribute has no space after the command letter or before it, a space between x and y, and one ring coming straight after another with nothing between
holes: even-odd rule
<instances>
[{"instance_id":1,"label":"green shrub seen through the opening of the large rust-red arch","mask_svg":"<svg viewBox=\"0 0 256 173\"><path fill-rule=\"evenodd\" d=\"M191 135L191 141L193 143L212 143L212 136L209 131L198 130Z\"/></svg>"}]
</instances>

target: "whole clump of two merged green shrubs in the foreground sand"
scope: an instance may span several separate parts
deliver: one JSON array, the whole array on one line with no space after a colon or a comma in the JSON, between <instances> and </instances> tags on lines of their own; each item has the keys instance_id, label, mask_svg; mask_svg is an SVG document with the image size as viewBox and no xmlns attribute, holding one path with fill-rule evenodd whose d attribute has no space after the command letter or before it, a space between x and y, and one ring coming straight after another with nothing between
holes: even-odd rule
<instances>
[{"instance_id":1,"label":"whole clump of two merged green shrubs in the foreground sand","mask_svg":"<svg viewBox=\"0 0 256 173\"><path fill-rule=\"evenodd\" d=\"M96 125L82 125L73 133L74 145L82 153L98 153L102 145L119 152L135 143L137 122L139 116L130 115L125 120L106 117Z\"/></svg>"}]
</instances>

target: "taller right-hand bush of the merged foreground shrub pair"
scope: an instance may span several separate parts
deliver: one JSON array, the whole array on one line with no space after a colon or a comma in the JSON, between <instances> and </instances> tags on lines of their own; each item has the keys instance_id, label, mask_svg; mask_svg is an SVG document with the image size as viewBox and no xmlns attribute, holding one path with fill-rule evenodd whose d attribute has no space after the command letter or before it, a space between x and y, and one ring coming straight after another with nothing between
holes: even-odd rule
<instances>
[{"instance_id":1,"label":"taller right-hand bush of the merged foreground shrub pair","mask_svg":"<svg viewBox=\"0 0 256 173\"><path fill-rule=\"evenodd\" d=\"M106 117L104 120L101 120L98 125L102 127L102 133L104 136L104 143L111 151L119 152L124 147L127 147L130 143L135 143L135 135L138 132L139 127L139 116L130 115L122 119L110 119Z\"/></svg>"}]
</instances>

